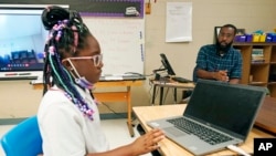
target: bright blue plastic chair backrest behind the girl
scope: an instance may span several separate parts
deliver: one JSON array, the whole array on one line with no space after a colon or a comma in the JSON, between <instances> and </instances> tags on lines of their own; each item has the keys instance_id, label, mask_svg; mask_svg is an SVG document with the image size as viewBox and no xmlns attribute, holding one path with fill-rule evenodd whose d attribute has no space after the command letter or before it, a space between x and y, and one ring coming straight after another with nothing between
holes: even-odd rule
<instances>
[{"instance_id":1,"label":"bright blue plastic chair backrest behind the girl","mask_svg":"<svg viewBox=\"0 0 276 156\"><path fill-rule=\"evenodd\" d=\"M36 116L19 123L1 138L7 156L36 156L42 154L42 138Z\"/></svg>"}]
</instances>

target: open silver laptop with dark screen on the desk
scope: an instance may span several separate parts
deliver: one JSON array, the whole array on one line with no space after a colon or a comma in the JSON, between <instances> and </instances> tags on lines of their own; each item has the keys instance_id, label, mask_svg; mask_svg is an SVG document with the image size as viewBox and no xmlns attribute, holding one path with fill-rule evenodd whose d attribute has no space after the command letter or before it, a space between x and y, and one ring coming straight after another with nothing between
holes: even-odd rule
<instances>
[{"instance_id":1,"label":"open silver laptop with dark screen on the desk","mask_svg":"<svg viewBox=\"0 0 276 156\"><path fill-rule=\"evenodd\" d=\"M163 129L169 139L190 153L206 155L245 142L265 95L261 86L198 80L181 116L147 124Z\"/></svg>"}]
</instances>

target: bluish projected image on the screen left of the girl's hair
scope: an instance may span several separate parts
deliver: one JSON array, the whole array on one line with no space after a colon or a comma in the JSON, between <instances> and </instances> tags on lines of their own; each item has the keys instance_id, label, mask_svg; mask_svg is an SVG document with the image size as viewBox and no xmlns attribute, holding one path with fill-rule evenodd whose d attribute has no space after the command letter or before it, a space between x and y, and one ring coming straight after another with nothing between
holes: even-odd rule
<instances>
[{"instance_id":1,"label":"bluish projected image on the screen left of the girl's hair","mask_svg":"<svg viewBox=\"0 0 276 156\"><path fill-rule=\"evenodd\" d=\"M42 8L0 7L0 79L42 74L47 32L41 13Z\"/></svg>"}]
</instances>

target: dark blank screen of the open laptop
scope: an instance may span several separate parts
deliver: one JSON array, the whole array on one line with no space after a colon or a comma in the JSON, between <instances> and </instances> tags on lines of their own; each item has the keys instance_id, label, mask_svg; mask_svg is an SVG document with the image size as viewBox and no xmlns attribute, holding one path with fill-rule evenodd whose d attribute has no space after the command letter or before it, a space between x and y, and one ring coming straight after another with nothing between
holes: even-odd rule
<instances>
[{"instance_id":1,"label":"dark blank screen of the open laptop","mask_svg":"<svg viewBox=\"0 0 276 156\"><path fill-rule=\"evenodd\" d=\"M184 116L246 138L264 96L263 87L199 80Z\"/></svg>"}]
</instances>

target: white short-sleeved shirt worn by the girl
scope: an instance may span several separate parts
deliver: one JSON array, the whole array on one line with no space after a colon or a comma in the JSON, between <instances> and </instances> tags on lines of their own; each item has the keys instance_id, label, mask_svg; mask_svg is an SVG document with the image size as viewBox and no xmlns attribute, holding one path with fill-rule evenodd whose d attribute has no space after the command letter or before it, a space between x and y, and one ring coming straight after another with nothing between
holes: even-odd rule
<instances>
[{"instance_id":1,"label":"white short-sleeved shirt worn by the girl","mask_svg":"<svg viewBox=\"0 0 276 156\"><path fill-rule=\"evenodd\" d=\"M94 119L84 116L62 90L47 91L38 112L44 156L84 156L109 149L97 105L88 91L77 90L93 108Z\"/></svg>"}]
</instances>

